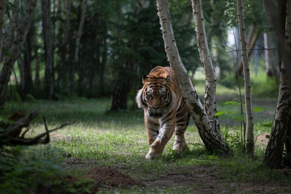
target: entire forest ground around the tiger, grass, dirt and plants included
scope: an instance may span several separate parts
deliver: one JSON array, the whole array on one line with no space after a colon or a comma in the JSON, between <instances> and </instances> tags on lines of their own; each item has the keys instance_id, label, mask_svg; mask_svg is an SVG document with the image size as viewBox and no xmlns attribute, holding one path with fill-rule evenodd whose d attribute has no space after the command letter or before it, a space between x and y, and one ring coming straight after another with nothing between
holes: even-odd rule
<instances>
[{"instance_id":1,"label":"entire forest ground around the tiger, grass, dirt and plants included","mask_svg":"<svg viewBox=\"0 0 291 194\"><path fill-rule=\"evenodd\" d=\"M240 152L240 115L235 113L240 106L224 103L232 99L221 97L217 108L228 111L219 117L233 157L209 155L190 122L186 131L190 151L172 152L172 138L162 157L154 161L145 160L148 145L141 110L108 112L110 99L6 103L1 116L38 110L46 116L49 129L72 124L53 132L49 145L18 148L20 155L9 159L13 170L2 173L0 193L291 193L290 169L270 170L262 165L270 133L262 125L272 122L276 99L254 99L255 159ZM44 130L41 116L31 129L28 136Z\"/></svg>"}]
</instances>

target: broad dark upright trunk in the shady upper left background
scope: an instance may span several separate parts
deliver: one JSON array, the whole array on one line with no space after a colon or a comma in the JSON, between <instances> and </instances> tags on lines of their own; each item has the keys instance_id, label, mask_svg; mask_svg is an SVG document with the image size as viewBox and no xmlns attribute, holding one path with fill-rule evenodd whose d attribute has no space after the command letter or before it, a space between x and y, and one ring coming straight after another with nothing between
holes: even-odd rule
<instances>
[{"instance_id":1,"label":"broad dark upright trunk in the shady upper left background","mask_svg":"<svg viewBox=\"0 0 291 194\"><path fill-rule=\"evenodd\" d=\"M51 0L41 0L42 34L45 50L45 95L50 99L53 95L53 42L51 34Z\"/></svg>"}]
</instances>

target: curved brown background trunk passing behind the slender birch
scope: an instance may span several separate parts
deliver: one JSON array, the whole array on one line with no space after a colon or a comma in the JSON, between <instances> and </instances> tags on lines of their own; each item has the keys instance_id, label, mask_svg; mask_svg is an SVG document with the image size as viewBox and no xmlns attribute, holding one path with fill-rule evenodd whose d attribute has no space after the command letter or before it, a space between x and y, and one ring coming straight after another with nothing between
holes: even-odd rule
<instances>
[{"instance_id":1,"label":"curved brown background trunk passing behind the slender birch","mask_svg":"<svg viewBox=\"0 0 291 194\"><path fill-rule=\"evenodd\" d=\"M248 49L247 50L248 56L250 56L252 54L252 51L255 48L258 35L259 35L259 33L258 33L257 28L255 28L254 25L252 25L250 27L250 31L249 31L248 37L247 37L248 40L247 40L247 48L246 49ZM238 72L239 72L239 75L242 75L242 72L243 72L242 60L240 60ZM238 75L238 74L236 73L236 75Z\"/></svg>"}]
</instances>

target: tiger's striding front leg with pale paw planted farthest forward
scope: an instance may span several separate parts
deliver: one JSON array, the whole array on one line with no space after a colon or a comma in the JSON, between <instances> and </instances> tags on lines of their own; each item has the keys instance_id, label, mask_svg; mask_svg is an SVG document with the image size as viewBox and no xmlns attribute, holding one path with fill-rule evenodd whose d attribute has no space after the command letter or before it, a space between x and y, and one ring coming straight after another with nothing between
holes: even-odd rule
<instances>
[{"instance_id":1,"label":"tiger's striding front leg with pale paw planted farthest forward","mask_svg":"<svg viewBox=\"0 0 291 194\"><path fill-rule=\"evenodd\" d=\"M174 129L175 129L174 118L167 120L167 122L161 125L158 136L154 140L154 143L150 145L149 153L146 155L146 159L153 160L163 153L165 146L171 139Z\"/></svg>"}]
</instances>

